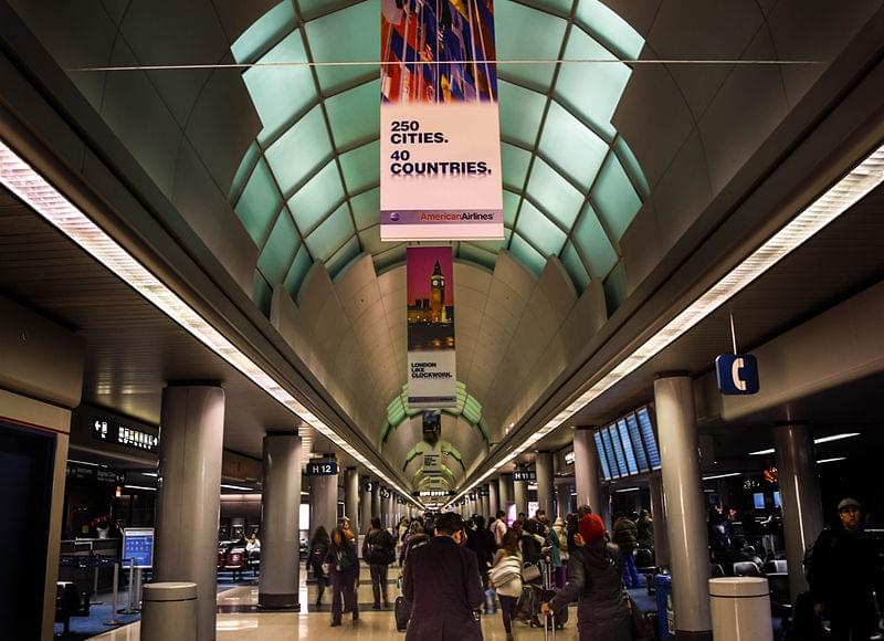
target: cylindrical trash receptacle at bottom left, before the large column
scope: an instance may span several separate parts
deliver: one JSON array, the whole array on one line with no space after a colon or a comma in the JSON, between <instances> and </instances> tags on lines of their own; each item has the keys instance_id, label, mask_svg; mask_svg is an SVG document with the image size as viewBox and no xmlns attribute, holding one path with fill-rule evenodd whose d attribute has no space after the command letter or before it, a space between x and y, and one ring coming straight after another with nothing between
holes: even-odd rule
<instances>
[{"instance_id":1,"label":"cylindrical trash receptacle at bottom left, before the large column","mask_svg":"<svg viewBox=\"0 0 884 641\"><path fill-rule=\"evenodd\" d=\"M141 598L141 641L197 641L197 584L147 584Z\"/></svg>"}]
</instances>

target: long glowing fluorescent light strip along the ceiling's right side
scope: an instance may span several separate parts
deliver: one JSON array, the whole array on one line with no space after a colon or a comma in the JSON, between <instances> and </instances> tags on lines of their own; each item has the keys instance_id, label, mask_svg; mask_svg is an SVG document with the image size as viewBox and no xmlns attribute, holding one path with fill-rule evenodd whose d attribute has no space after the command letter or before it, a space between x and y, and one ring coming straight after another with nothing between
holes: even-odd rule
<instances>
[{"instance_id":1,"label":"long glowing fluorescent light strip along the ceiling's right side","mask_svg":"<svg viewBox=\"0 0 884 641\"><path fill-rule=\"evenodd\" d=\"M810 240L817 232L853 207L882 182L884 182L884 146L870 154L846 176L830 187L825 193L811 202L739 265L701 295L699 298L688 305L681 314L636 348L635 351L621 360L611 371L580 395L577 400L556 414L546 425L528 437L520 445L516 446L504 461L492 470L499 470L501 466L518 456L532 444L561 425L624 377L648 362L794 249ZM470 488L474 486L471 485Z\"/></svg>"}]
</instances>

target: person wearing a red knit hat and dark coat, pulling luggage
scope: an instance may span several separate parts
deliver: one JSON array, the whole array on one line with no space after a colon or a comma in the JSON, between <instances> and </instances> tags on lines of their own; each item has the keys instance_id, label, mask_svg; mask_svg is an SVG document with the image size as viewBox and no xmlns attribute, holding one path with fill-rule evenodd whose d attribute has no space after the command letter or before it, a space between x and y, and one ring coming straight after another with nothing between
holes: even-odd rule
<instances>
[{"instance_id":1,"label":"person wearing a red knit hat and dark coat, pulling luggage","mask_svg":"<svg viewBox=\"0 0 884 641\"><path fill-rule=\"evenodd\" d=\"M620 549L604 540L604 524L594 514L583 516L575 536L578 546L568 560L568 582L548 602L544 614L577 601L580 641L630 641L632 622L623 600Z\"/></svg>"}]
</instances>

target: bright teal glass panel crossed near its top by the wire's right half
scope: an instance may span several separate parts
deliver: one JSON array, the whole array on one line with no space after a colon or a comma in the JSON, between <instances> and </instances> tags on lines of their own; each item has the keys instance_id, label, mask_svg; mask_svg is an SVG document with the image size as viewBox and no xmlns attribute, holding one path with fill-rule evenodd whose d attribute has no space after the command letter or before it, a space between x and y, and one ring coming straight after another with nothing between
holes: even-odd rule
<instances>
[{"instance_id":1,"label":"bright teal glass panel crossed near its top by the wire's right half","mask_svg":"<svg viewBox=\"0 0 884 641\"><path fill-rule=\"evenodd\" d=\"M615 60L611 52L579 29L571 30L565 57ZM631 73L622 63L564 64L556 82L556 96L610 141L615 134L611 117Z\"/></svg>"}]
</instances>

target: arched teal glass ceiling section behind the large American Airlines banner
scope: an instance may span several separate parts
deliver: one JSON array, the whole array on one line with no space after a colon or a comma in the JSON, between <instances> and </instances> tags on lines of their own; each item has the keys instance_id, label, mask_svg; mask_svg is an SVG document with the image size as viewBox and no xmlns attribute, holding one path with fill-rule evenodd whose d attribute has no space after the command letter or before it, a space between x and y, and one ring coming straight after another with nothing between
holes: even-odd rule
<instances>
[{"instance_id":1,"label":"arched teal glass ceiling section behind the large American Airlines banner","mask_svg":"<svg viewBox=\"0 0 884 641\"><path fill-rule=\"evenodd\" d=\"M255 65L243 80L263 128L230 198L260 250L265 307L276 283L297 298L314 261L332 277L364 252L378 272L404 261L404 243L379 233L379 12L378 0L283 0L231 48ZM498 0L495 21L498 60L549 62L498 66L506 238L455 242L455 256L493 269L507 249L535 275L557 256L582 292L619 263L649 191L611 124L632 73L618 61L644 40L597 0Z\"/></svg>"}]
</instances>

